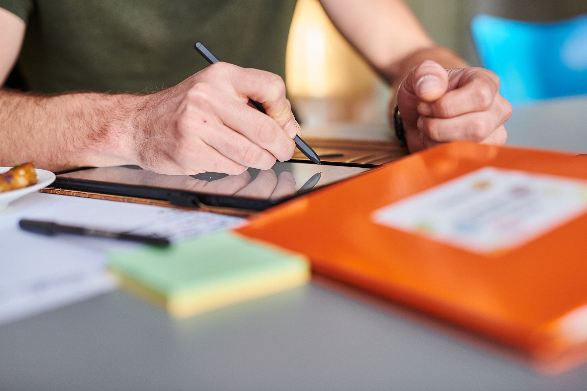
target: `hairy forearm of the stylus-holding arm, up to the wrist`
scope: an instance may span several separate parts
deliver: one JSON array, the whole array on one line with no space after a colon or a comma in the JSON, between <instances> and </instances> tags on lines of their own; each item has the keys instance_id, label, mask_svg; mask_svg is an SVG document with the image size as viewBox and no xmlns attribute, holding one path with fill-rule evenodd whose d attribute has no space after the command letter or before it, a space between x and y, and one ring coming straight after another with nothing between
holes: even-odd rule
<instances>
[{"instance_id":1,"label":"hairy forearm of the stylus-holding arm, up to the wrist","mask_svg":"<svg viewBox=\"0 0 587 391\"><path fill-rule=\"evenodd\" d=\"M57 171L131 164L139 97L97 93L38 96L0 90L0 166L32 161Z\"/></svg>"}]
</instances>

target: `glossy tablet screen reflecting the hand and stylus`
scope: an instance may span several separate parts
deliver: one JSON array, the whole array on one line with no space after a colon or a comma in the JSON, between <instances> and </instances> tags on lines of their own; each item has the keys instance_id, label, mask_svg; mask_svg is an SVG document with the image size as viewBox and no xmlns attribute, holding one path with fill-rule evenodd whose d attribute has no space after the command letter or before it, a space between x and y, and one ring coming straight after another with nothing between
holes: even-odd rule
<instances>
[{"instance_id":1,"label":"glossy tablet screen reflecting the hand and stylus","mask_svg":"<svg viewBox=\"0 0 587 391\"><path fill-rule=\"evenodd\" d=\"M163 175L137 166L82 169L59 174L59 178L85 179L123 185L150 186L179 191L237 196L253 199L283 199L321 188L369 170L367 166L276 162L268 170L249 168L240 175L206 172L198 175Z\"/></svg>"}]
</instances>

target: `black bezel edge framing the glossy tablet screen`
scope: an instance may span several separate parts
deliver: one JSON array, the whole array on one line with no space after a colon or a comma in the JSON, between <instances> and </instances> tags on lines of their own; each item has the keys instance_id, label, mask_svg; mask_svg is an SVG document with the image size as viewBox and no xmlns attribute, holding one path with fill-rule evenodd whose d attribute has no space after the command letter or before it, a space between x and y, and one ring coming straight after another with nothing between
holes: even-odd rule
<instances>
[{"instance_id":1,"label":"black bezel edge framing the glossy tablet screen","mask_svg":"<svg viewBox=\"0 0 587 391\"><path fill-rule=\"evenodd\" d=\"M302 159L291 159L289 162L313 164L307 160ZM376 168L379 165L376 164L360 164L360 163L345 163L345 162L322 162L323 165L333 166L344 166L344 167L360 167L360 168ZM298 195L305 194L307 192L298 193L290 197L281 199L254 199L254 198L243 198L237 196L227 195L216 195L210 193L198 193L183 191L178 189L158 188L153 186L140 186L140 185L124 185L121 183L113 182L101 182L101 181L90 181L88 179L77 179L77 178L63 178L60 174L68 174L70 172L82 171L93 167L80 167L73 168L64 171L58 171L55 173L57 178L55 182L50 186L56 189L64 189L70 191L86 191L94 193L103 193L116 196L130 196L137 198L156 199L164 200L175 206L183 206L188 208L199 208L202 204L205 206L220 207L220 208L235 208L235 209L248 209L248 210L264 210L271 208L271 206L278 205L279 203L285 202ZM367 171L366 171L367 172ZM360 173L363 174L363 173ZM360 175L357 174L357 175ZM350 177L352 178L352 177ZM349 179L349 178L347 178ZM343 179L345 181L346 179ZM338 182L335 182L338 183ZM311 189L308 192L319 190L328 187L322 186L318 189Z\"/></svg>"}]
</instances>

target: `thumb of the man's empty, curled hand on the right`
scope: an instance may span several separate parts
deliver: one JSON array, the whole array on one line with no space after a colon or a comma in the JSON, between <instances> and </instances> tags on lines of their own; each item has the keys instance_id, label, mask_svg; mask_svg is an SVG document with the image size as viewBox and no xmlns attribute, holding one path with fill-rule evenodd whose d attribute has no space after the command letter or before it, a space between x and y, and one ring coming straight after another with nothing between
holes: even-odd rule
<instances>
[{"instance_id":1,"label":"thumb of the man's empty, curled hand on the right","mask_svg":"<svg viewBox=\"0 0 587 391\"><path fill-rule=\"evenodd\" d=\"M404 85L420 100L435 101L448 89L448 73L440 64L426 60L410 71Z\"/></svg>"}]
</instances>

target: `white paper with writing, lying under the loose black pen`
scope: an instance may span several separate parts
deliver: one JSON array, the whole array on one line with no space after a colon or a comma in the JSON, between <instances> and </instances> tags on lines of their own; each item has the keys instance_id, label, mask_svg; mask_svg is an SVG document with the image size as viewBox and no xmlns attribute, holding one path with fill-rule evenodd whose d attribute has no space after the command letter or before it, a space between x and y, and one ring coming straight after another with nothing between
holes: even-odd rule
<instances>
[{"instance_id":1,"label":"white paper with writing, lying under the loose black pen","mask_svg":"<svg viewBox=\"0 0 587 391\"><path fill-rule=\"evenodd\" d=\"M34 193L0 213L0 324L116 288L106 272L107 251L139 246L65 234L21 230L20 219L157 234L171 240L229 229L245 219L72 196Z\"/></svg>"}]
</instances>

